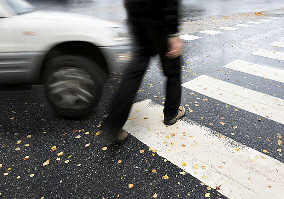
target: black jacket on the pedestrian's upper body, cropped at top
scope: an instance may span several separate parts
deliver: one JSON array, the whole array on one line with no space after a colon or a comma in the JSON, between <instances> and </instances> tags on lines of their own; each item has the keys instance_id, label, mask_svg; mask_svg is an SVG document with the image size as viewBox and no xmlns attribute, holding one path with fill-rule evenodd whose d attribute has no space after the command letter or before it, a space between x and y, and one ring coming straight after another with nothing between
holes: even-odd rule
<instances>
[{"instance_id":1,"label":"black jacket on the pedestrian's upper body, cropped at top","mask_svg":"<svg viewBox=\"0 0 284 199\"><path fill-rule=\"evenodd\" d=\"M128 20L150 24L167 34L177 32L179 0L125 0Z\"/></svg>"}]
</instances>

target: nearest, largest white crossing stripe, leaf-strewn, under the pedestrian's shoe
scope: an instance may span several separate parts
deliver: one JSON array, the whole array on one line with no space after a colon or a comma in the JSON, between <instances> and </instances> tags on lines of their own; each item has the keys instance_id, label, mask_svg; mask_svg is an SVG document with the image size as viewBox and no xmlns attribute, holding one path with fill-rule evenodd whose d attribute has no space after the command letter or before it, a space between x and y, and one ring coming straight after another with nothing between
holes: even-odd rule
<instances>
[{"instance_id":1,"label":"nearest, largest white crossing stripe, leaf-strewn, under the pedestrian's shoe","mask_svg":"<svg viewBox=\"0 0 284 199\"><path fill-rule=\"evenodd\" d=\"M151 100L138 102L124 129L207 186L222 185L218 192L229 199L283 198L283 163L188 119L165 126L162 110Z\"/></svg>"}]
</instances>

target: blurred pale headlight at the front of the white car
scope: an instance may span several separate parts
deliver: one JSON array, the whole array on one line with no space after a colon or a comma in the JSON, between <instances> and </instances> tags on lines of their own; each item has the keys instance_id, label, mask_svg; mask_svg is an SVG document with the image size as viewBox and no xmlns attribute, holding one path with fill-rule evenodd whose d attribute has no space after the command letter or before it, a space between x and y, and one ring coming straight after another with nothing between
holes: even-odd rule
<instances>
[{"instance_id":1,"label":"blurred pale headlight at the front of the white car","mask_svg":"<svg viewBox=\"0 0 284 199\"><path fill-rule=\"evenodd\" d=\"M130 34L127 28L105 28L106 34L114 41L127 41L130 40Z\"/></svg>"}]
</instances>

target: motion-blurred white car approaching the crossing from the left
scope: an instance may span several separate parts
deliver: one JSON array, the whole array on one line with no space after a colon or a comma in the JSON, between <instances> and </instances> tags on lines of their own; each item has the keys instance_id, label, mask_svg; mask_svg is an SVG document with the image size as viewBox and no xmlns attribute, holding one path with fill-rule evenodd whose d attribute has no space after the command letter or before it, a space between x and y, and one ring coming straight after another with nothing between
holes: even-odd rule
<instances>
[{"instance_id":1,"label":"motion-blurred white car approaching the crossing from the left","mask_svg":"<svg viewBox=\"0 0 284 199\"><path fill-rule=\"evenodd\" d=\"M131 46L122 24L0 0L0 84L43 84L61 115L92 111L106 74L129 62Z\"/></svg>"}]
</instances>

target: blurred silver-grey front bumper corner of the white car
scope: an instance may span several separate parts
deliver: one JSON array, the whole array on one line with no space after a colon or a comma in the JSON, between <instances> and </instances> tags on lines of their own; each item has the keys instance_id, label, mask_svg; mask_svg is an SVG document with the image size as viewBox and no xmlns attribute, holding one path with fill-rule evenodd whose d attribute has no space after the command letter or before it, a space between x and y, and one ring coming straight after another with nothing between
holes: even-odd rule
<instances>
[{"instance_id":1,"label":"blurred silver-grey front bumper corner of the white car","mask_svg":"<svg viewBox=\"0 0 284 199\"><path fill-rule=\"evenodd\" d=\"M99 47L107 62L109 73L121 73L132 60L132 45Z\"/></svg>"}]
</instances>

